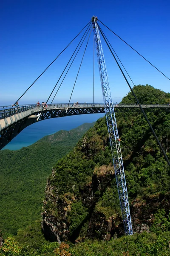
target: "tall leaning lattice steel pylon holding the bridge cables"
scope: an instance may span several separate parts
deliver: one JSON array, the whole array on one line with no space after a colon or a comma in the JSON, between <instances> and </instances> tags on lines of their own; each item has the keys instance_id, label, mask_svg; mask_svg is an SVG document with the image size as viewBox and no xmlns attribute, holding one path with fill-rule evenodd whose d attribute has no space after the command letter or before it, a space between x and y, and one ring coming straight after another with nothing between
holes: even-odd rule
<instances>
[{"instance_id":1,"label":"tall leaning lattice steel pylon holding the bridge cables","mask_svg":"<svg viewBox=\"0 0 170 256\"><path fill-rule=\"evenodd\" d=\"M127 187L125 180L125 172L123 167L122 153L120 148L119 134L116 124L116 117L111 98L111 91L109 87L108 74L106 70L105 58L103 55L102 44L97 25L97 17L92 17L92 24L94 28L94 39L96 42L96 53L99 65L100 81L102 85L103 100L105 104L105 113L108 125L109 139L111 143L111 151L113 157L113 166L116 176L117 188L119 193L120 206L122 210L123 223L126 235L132 235L132 223L130 217L129 201L127 196Z\"/></svg>"}]
</instances>

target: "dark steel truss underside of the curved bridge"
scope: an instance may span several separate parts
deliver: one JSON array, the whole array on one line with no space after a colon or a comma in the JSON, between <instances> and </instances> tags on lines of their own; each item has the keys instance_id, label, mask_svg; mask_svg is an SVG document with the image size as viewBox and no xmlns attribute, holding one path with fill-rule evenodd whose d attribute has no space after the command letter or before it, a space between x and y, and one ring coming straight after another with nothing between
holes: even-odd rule
<instances>
[{"instance_id":1,"label":"dark steel truss underside of the curved bridge","mask_svg":"<svg viewBox=\"0 0 170 256\"><path fill-rule=\"evenodd\" d=\"M144 108L146 111L158 111L158 108ZM170 108L164 108L164 111L170 112ZM33 112L33 113L31 113ZM23 129L27 126L34 124L35 122L40 122L45 119L49 118L56 118L56 117L64 117L64 116L74 116L74 115L82 115L82 114L92 114L92 113L105 113L104 107L92 107L92 108L58 108L58 109L50 109L42 111L42 114L39 117L41 110L34 109L34 111L30 111L28 116L22 117L18 119L17 114L14 115L16 121L15 122L7 122L6 118L3 119L4 123L6 123L5 127L0 130L0 150L5 147L14 137L16 137ZM115 112L140 112L140 109L137 107L115 107ZM19 115L19 114L18 114ZM13 117L14 117L13 116ZM11 118L11 117L10 117ZM2 119L1 119L2 120ZM0 120L0 121L1 121Z\"/></svg>"}]
</instances>

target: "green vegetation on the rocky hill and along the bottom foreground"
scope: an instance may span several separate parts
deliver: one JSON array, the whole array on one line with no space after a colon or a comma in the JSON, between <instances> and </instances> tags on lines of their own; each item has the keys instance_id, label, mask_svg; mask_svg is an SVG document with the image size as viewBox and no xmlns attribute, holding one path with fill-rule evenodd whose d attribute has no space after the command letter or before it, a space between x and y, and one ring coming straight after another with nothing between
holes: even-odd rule
<instances>
[{"instance_id":1,"label":"green vegetation on the rocky hill and along the bottom foreground","mask_svg":"<svg viewBox=\"0 0 170 256\"><path fill-rule=\"evenodd\" d=\"M138 85L134 91L142 104L161 105L170 102L170 93L164 93L150 85ZM135 103L132 93L128 93L122 99L122 103ZM164 110L146 110L146 114L170 158L170 113ZM89 236L89 223L92 221L91 207L85 204L83 193L85 187L91 184L94 175L99 176L102 170L112 166L106 119L102 118L87 131L70 153L53 164L56 172L48 179L56 189L53 193L59 194L59 201L57 207L52 198L51 201L47 201L44 206L46 215L62 221L59 209L69 199L71 210L68 211L66 221L70 237L75 236L77 232L76 244L70 241L61 244L46 241L41 231L40 221L35 221L26 229L20 229L17 236L8 237L0 248L0 255L170 255L170 168L141 113L116 113L116 120L121 139L133 226L135 227L136 218L143 218L143 221L146 221L147 212L152 212L152 219L149 224L147 223L149 233L122 236L120 232L115 236L112 234L110 241L102 241L102 231L98 226L98 229L94 227L92 235ZM154 207L151 208L151 205ZM135 215L136 208L140 210L140 216ZM94 222L95 216L102 216L105 220L115 216L115 227L123 230L115 178L104 189L100 186L96 188L93 216ZM92 222L91 224L93 225ZM137 227L135 228L134 232L138 232Z\"/></svg>"}]
</instances>

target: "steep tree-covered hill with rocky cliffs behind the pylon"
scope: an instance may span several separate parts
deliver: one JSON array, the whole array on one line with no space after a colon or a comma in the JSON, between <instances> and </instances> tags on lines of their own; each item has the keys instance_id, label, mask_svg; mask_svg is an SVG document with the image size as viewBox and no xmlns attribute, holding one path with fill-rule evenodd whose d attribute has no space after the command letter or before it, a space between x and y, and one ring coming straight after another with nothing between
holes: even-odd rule
<instances>
[{"instance_id":1,"label":"steep tree-covered hill with rocky cliffs behind the pylon","mask_svg":"<svg viewBox=\"0 0 170 256\"><path fill-rule=\"evenodd\" d=\"M142 103L166 104L170 97L148 85L135 90ZM122 103L134 103L132 94ZM170 157L170 113L147 111L147 116ZM170 169L141 113L116 117L133 230L149 232L155 228L154 215L169 218ZM42 227L46 239L58 242L85 237L110 240L124 234L105 118L54 166L46 186Z\"/></svg>"}]
</instances>

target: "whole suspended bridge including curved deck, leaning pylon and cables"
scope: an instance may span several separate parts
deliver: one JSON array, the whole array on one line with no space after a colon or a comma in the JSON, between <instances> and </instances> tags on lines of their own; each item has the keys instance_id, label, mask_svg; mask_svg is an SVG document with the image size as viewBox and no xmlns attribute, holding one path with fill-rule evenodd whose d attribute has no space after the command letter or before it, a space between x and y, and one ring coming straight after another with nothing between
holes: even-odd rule
<instances>
[{"instance_id":1,"label":"whole suspended bridge including curved deck, leaning pylon and cables","mask_svg":"<svg viewBox=\"0 0 170 256\"><path fill-rule=\"evenodd\" d=\"M17 99L17 101L12 106L2 106L0 107L0 149L2 149L8 142L10 142L14 137L17 136L24 128L26 128L28 125L34 124L35 122L39 122L45 119L50 118L57 118L57 117L64 117L64 116L72 116L72 115L82 115L82 114L92 114L92 113L105 113L106 120L107 120L107 127L108 127L108 134L109 134L109 140L111 145L111 154L113 158L113 168L115 171L116 176L116 183L118 187L118 194L119 194L119 201L120 206L122 210L122 220L125 227L125 234L126 235L132 235L132 222L130 217L130 207L128 202L128 196L127 196L127 186L126 186L126 180L125 180L125 172L124 172L124 166L123 166L123 160L122 160L122 152L121 152L121 143L119 139L119 133L118 128L116 124L116 112L142 112L144 115L144 118L146 119L148 125L150 126L150 129L159 144L159 147L161 148L161 151L167 160L167 163L170 166L170 161L167 158L166 152L161 146L161 143L159 142L158 137L156 136L155 131L153 130L152 125L150 124L147 115L144 111L166 111L170 112L170 105L169 105L169 98L165 101L162 100L162 102L167 102L166 105L146 105L146 104L140 104L139 99L136 97L135 90L131 87L130 83L134 85L134 88L136 88L135 84L133 83L132 79L130 78L129 74L127 73L127 70L125 69L124 65L120 61L118 55L114 51L113 47L111 46L110 42L108 41L108 38L106 37L105 33L102 30L101 25L106 27L102 21L100 21L97 17L93 16L91 20L87 23L87 25L78 33L78 35L67 45L67 47L81 34L82 38L79 41L79 44L77 45L76 49L74 50L73 54L71 55L71 58L68 60L68 63L66 64L64 70L61 73L61 76L59 76L59 79L57 80L56 84L54 85L53 89L51 90L51 93L48 96L48 99L44 104L40 104L38 102L36 105L21 105L19 106L18 102L20 99L25 95L25 93L34 85L34 83L45 73L45 71L54 63L54 61L57 60L57 58L62 54L62 52L65 51L65 49L60 52L60 54L54 59L54 61L51 62L50 65L38 76L38 78L26 89L26 91ZM116 35L111 29L109 29L114 35ZM77 82L77 78L79 76L79 71L82 65L82 61L88 46L89 38L91 36L91 32L94 32L94 50L93 50L93 103L82 103L79 104L73 102L72 95L74 93L74 88ZM114 104L111 96L110 91L110 85L108 80L108 73L106 69L105 64L105 58L104 53L102 49L102 42L100 35L102 35L103 41L105 41L105 44L107 45L108 49L111 52L111 55L113 56L114 61L116 62L117 66L119 67L120 72L122 73L122 76L124 77L128 87L131 91L131 96L133 99L135 99L134 102L136 104ZM120 38L118 35L116 35L119 39L121 39L125 44L127 44L122 38ZM66 75L68 74L68 71L71 68L71 65L73 64L79 49L82 47L84 41L86 40L86 44L84 45L84 51L81 58L81 62L78 67L76 78L73 82L73 87L71 89L71 95L68 100L68 103L66 104L54 104L54 99L57 95L58 97L58 91L65 80ZM137 54L139 54L145 61L147 61L146 58L144 58L139 52L137 52L133 47L131 47L129 44L127 44L131 49L133 49ZM102 87L102 96L103 96L103 102L104 103L94 103L94 53L96 50L96 58L97 63L99 67L99 78L101 82ZM149 64L151 64L149 61L147 61ZM156 68L153 64L151 64L154 68ZM164 77L166 77L168 80L170 80L164 73L162 73L159 69L156 68L157 71L159 71ZM64 75L65 74L65 75ZM125 76L127 74L127 76ZM87 75L87 74L86 74ZM129 83L129 81L131 81ZM62 81L61 81L62 80ZM86 87L85 87L86 89ZM86 90L87 93L89 93L88 90ZM137 92L137 89L136 89ZM64 93L67 93L67 90L64 91ZM36 94L36 93L35 93ZM138 95L141 93L138 92ZM45 93L46 95L46 93ZM31 98L32 99L32 98ZM86 99L85 99L86 100ZM51 102L51 104L49 104ZM133 101L132 101L133 102ZM157 100L155 101L157 102Z\"/></svg>"}]
</instances>

